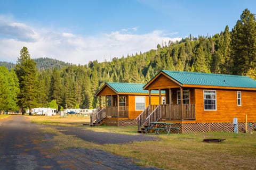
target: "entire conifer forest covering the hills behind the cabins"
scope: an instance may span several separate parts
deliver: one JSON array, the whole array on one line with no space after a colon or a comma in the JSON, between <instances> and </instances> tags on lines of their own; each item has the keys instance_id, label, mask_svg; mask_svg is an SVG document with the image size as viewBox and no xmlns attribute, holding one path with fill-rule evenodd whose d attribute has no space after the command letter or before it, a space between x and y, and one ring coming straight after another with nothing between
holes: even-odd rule
<instances>
[{"instance_id":1,"label":"entire conifer forest covering the hills behind the cabins","mask_svg":"<svg viewBox=\"0 0 256 170\"><path fill-rule=\"evenodd\" d=\"M94 95L105 82L147 83L161 70L256 79L256 20L255 14L245 9L234 28L226 26L212 36L190 35L181 41L163 41L148 52L117 56L101 63L75 65L51 58L33 60L27 47L17 56L16 64L0 62L1 113L49 107L51 103L59 109L97 108L99 100Z\"/></svg>"}]
</instances>

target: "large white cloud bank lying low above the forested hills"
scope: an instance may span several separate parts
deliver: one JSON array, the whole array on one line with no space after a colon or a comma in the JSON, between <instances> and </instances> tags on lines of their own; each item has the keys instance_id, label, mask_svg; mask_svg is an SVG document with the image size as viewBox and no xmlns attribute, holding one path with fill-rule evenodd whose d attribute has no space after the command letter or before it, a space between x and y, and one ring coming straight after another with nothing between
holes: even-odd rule
<instances>
[{"instance_id":1,"label":"large white cloud bank lying low above the forested hills","mask_svg":"<svg viewBox=\"0 0 256 170\"><path fill-rule=\"evenodd\" d=\"M3 19L0 18L0 20ZM6 22L6 21L5 21ZM132 28L136 31L138 27ZM121 30L124 31L124 30ZM20 50L26 46L31 58L50 57L73 64L87 64L89 61L109 61L113 57L147 52L157 44L176 41L168 33L155 30L143 35L113 31L102 35L84 37L68 32L36 29L24 23L6 22L0 25L0 61L17 61Z\"/></svg>"}]
</instances>

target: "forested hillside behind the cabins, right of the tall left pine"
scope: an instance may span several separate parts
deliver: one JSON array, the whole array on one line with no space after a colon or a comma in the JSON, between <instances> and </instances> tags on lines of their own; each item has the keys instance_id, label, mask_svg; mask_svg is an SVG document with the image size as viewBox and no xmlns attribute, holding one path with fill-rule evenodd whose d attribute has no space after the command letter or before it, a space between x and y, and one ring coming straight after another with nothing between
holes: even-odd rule
<instances>
[{"instance_id":1,"label":"forested hillside behind the cabins, right of the tall left pine","mask_svg":"<svg viewBox=\"0 0 256 170\"><path fill-rule=\"evenodd\" d=\"M188 28L189 29L189 28ZM94 94L105 82L146 83L161 70L248 75L256 78L256 21L245 10L235 27L228 26L214 36L193 37L180 42L163 42L146 53L110 62L91 61L87 65L70 65L55 60L35 60L37 107L50 101L63 108L98 107ZM43 69L44 67L51 69Z\"/></svg>"}]
</instances>

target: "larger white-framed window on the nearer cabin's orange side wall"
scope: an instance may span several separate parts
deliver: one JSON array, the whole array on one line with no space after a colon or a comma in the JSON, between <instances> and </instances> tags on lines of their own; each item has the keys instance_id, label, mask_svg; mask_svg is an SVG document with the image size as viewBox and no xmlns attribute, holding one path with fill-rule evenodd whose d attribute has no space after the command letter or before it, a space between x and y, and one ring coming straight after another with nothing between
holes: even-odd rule
<instances>
[{"instance_id":1,"label":"larger white-framed window on the nearer cabin's orange side wall","mask_svg":"<svg viewBox=\"0 0 256 170\"><path fill-rule=\"evenodd\" d=\"M216 111L216 91L204 90L204 111Z\"/></svg>"}]
</instances>

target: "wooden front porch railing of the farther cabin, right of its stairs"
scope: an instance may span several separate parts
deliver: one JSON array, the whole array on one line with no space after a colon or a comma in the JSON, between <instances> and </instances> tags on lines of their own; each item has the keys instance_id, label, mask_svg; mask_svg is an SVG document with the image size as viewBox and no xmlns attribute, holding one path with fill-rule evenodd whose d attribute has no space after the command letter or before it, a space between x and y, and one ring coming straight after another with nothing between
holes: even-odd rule
<instances>
[{"instance_id":1,"label":"wooden front porch railing of the farther cabin, right of its stairs","mask_svg":"<svg viewBox=\"0 0 256 170\"><path fill-rule=\"evenodd\" d=\"M128 117L128 106L119 106L119 112L117 106L106 107L107 117Z\"/></svg>"}]
</instances>

